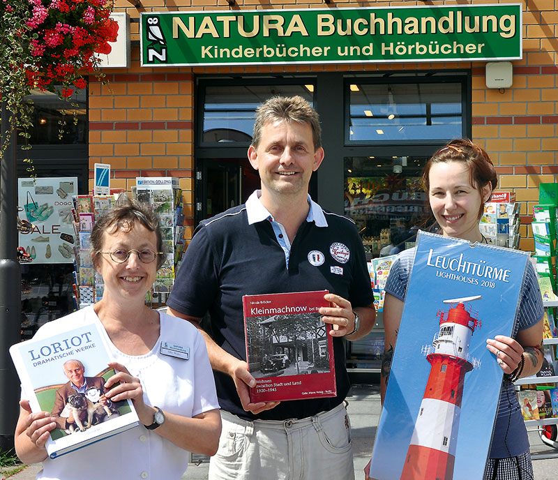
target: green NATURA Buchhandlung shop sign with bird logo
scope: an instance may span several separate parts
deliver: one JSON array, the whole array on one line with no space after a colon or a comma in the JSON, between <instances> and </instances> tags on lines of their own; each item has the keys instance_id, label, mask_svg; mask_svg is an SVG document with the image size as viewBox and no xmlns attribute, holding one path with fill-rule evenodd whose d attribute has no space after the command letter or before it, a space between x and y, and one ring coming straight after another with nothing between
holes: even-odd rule
<instances>
[{"instance_id":1,"label":"green NATURA Buchhandlung shop sign with bird logo","mask_svg":"<svg viewBox=\"0 0 558 480\"><path fill-rule=\"evenodd\" d=\"M142 66L522 58L520 4L150 12Z\"/></svg>"}]
</instances>

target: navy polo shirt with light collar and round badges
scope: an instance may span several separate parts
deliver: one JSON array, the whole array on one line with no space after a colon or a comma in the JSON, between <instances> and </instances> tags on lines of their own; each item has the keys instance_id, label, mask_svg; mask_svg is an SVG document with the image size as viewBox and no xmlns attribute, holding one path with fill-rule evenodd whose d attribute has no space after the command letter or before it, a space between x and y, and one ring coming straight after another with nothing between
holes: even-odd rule
<instances>
[{"instance_id":1,"label":"navy polo shirt with light collar and round badges","mask_svg":"<svg viewBox=\"0 0 558 480\"><path fill-rule=\"evenodd\" d=\"M254 200L259 202L252 194L247 204ZM329 290L353 307L370 305L374 301L370 276L354 223L314 202L311 211L319 213L316 217L323 212L322 221L302 223L290 246L288 267L271 221L252 218L250 224L246 205L203 220L183 256L167 305L193 317L209 311L213 340L244 361L243 295ZM282 402L253 415L243 410L232 378L214 370L220 407L249 420L302 419L331 410L350 387L341 338L333 338L333 349L336 397Z\"/></svg>"}]
</instances>

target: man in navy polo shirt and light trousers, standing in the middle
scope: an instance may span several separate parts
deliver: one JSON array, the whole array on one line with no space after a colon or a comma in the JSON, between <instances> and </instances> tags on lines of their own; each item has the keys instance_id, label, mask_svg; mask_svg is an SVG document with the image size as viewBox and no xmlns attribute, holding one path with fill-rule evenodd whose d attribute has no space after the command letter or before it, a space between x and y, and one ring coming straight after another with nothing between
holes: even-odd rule
<instances>
[{"instance_id":1,"label":"man in navy polo shirt and light trousers, standing in the middle","mask_svg":"<svg viewBox=\"0 0 558 480\"><path fill-rule=\"evenodd\" d=\"M215 375L223 433L210 479L354 479L349 390L342 338L358 340L375 320L370 277L352 220L308 195L324 159L319 117L303 98L275 97L257 109L250 164L262 190L204 220L194 232L167 301L203 331ZM250 403L243 295L329 290L320 309L333 324L337 396Z\"/></svg>"}]
</instances>

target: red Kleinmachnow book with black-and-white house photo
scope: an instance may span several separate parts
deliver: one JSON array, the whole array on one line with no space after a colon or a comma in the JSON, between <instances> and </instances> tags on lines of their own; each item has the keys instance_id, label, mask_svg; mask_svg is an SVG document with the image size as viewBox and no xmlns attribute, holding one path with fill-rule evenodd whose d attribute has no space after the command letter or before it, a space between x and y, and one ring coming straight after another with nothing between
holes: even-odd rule
<instances>
[{"instance_id":1,"label":"red Kleinmachnow book with black-and-white house photo","mask_svg":"<svg viewBox=\"0 0 558 480\"><path fill-rule=\"evenodd\" d=\"M331 324L322 322L326 290L243 297L246 360L256 379L252 403L333 397Z\"/></svg>"}]
</instances>

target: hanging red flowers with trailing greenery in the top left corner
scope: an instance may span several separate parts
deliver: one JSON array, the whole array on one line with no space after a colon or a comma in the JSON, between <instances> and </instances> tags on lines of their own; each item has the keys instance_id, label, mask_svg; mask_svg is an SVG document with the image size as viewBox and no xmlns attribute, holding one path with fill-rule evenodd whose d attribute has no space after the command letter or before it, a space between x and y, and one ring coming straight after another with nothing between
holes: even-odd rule
<instances>
[{"instance_id":1,"label":"hanging red flowers with trailing greenery in the top left corner","mask_svg":"<svg viewBox=\"0 0 558 480\"><path fill-rule=\"evenodd\" d=\"M24 98L33 89L69 98L86 87L85 76L103 76L94 53L109 53L108 42L116 40L113 6L112 0L0 0L0 92L24 136L32 112ZM9 133L2 136L5 144Z\"/></svg>"}]
</instances>

